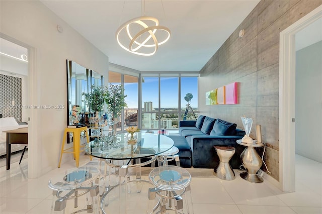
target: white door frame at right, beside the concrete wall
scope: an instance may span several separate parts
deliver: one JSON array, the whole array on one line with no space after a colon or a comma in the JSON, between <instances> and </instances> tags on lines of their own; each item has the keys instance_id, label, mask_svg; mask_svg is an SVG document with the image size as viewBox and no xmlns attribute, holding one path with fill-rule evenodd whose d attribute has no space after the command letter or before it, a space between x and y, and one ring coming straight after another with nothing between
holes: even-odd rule
<instances>
[{"instance_id":1,"label":"white door frame at right, beside the concrete wall","mask_svg":"<svg viewBox=\"0 0 322 214\"><path fill-rule=\"evenodd\" d=\"M295 34L321 17L322 5L280 33L279 182L284 192L295 191Z\"/></svg>"}]
</instances>

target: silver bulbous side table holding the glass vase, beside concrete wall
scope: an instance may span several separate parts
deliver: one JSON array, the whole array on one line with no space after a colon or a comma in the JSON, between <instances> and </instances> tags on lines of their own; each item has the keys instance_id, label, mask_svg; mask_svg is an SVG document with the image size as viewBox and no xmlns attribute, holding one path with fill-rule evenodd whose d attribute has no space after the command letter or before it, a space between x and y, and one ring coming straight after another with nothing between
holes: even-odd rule
<instances>
[{"instance_id":1,"label":"silver bulbous side table holding the glass vase, beside concrete wall","mask_svg":"<svg viewBox=\"0 0 322 214\"><path fill-rule=\"evenodd\" d=\"M240 177L252 183L263 182L264 179L256 174L261 168L263 160L258 155L255 147L263 147L264 144L257 144L256 140L254 140L253 143L241 143L241 140L237 140L237 144L246 146L245 150L240 155L241 163L245 167L246 172L240 173Z\"/></svg>"}]
</instances>

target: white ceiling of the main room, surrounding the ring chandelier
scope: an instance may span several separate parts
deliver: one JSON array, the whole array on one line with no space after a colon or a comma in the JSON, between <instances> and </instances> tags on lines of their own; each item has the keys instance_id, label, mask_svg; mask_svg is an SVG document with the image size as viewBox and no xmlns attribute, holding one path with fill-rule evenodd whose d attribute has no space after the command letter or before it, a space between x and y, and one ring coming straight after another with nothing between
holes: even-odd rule
<instances>
[{"instance_id":1,"label":"white ceiling of the main room, surrounding the ring chandelier","mask_svg":"<svg viewBox=\"0 0 322 214\"><path fill-rule=\"evenodd\" d=\"M259 0L41 2L107 55L110 63L139 71L199 71ZM172 33L153 56L129 53L115 38L121 24L142 15L157 18Z\"/></svg>"}]
</instances>

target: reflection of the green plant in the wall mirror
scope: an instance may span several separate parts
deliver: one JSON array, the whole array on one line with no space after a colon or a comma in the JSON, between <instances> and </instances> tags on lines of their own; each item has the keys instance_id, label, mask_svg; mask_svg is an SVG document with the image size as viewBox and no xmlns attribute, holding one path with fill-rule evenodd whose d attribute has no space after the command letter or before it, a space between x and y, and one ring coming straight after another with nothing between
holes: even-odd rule
<instances>
[{"instance_id":1,"label":"reflection of the green plant in the wall mirror","mask_svg":"<svg viewBox=\"0 0 322 214\"><path fill-rule=\"evenodd\" d=\"M103 112L104 91L102 89L102 86L92 85L91 92L83 92L82 95L85 95L85 103L89 106L91 112Z\"/></svg>"}]
</instances>

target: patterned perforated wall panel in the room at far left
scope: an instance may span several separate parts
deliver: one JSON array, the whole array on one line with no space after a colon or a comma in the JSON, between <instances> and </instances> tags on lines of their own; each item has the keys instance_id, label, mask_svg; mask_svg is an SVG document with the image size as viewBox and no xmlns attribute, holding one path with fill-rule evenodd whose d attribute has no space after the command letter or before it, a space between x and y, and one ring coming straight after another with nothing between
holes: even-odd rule
<instances>
[{"instance_id":1,"label":"patterned perforated wall panel in the room at far left","mask_svg":"<svg viewBox=\"0 0 322 214\"><path fill-rule=\"evenodd\" d=\"M22 118L22 79L0 74L0 114L14 117L18 122Z\"/></svg>"}]
</instances>

